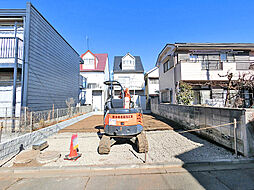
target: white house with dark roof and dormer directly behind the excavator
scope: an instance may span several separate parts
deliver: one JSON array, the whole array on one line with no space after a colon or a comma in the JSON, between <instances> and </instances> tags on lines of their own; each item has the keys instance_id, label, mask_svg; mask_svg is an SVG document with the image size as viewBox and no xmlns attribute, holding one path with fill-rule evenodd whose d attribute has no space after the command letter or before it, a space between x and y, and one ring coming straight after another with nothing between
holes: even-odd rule
<instances>
[{"instance_id":1,"label":"white house with dark roof and dormer directly behind the excavator","mask_svg":"<svg viewBox=\"0 0 254 190\"><path fill-rule=\"evenodd\" d=\"M115 56L113 79L119 81L123 88L129 88L134 104L145 109L144 68L140 56L133 56L130 53ZM115 95L119 94L120 89L115 90Z\"/></svg>"}]
</instances>

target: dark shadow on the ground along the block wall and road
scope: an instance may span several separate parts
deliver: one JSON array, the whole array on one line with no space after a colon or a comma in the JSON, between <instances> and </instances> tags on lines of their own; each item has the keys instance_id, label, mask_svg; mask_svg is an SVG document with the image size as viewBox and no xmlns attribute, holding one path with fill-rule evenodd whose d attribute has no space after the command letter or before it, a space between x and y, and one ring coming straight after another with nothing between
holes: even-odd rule
<instances>
[{"instance_id":1,"label":"dark shadow on the ground along the block wall and road","mask_svg":"<svg viewBox=\"0 0 254 190\"><path fill-rule=\"evenodd\" d=\"M161 116L152 115L155 119L158 119L162 122L167 123L172 127L172 129L175 132L183 131L183 126L179 125L176 122L170 121L166 118L163 118ZM184 165L183 168L186 169L189 174L192 175L193 178L197 180L197 182L200 184L201 188L204 189L254 189L254 170L253 169L238 169L236 170L227 170L227 167L225 165L221 165L221 167L224 167L223 170L214 170L211 171L210 169L205 169L206 166L203 166L204 164L197 164L200 166L201 171L193 170L192 167L190 167L190 162L206 162L206 161L216 161L220 159L224 160L231 160L233 156L233 151L223 147L222 145L219 145L216 142L212 142L210 140L206 140L203 137L199 136L195 133L182 133L180 134L183 137L189 139L192 142L203 144L203 146L199 146L197 148L194 148L192 150L186 151L182 154L179 154L175 156L176 158L180 159ZM209 160L199 160L196 158L199 158L201 153L209 154L209 146L207 146L209 143L212 143L214 146L217 147L217 151L220 152L223 150L223 152L227 152L228 154L225 154L225 157L216 157L216 155L211 155ZM216 154L216 152L215 152ZM221 154L219 154L221 155ZM242 156L241 156L242 157Z\"/></svg>"}]
</instances>

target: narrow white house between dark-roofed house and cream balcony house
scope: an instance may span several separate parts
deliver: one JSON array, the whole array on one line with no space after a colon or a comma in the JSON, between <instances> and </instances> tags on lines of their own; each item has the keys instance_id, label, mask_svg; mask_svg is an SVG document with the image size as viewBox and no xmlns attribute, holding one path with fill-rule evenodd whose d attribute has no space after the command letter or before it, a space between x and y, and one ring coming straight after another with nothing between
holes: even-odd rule
<instances>
[{"instance_id":1,"label":"narrow white house between dark-roofed house and cream balcony house","mask_svg":"<svg viewBox=\"0 0 254 190\"><path fill-rule=\"evenodd\" d=\"M150 108L150 99L159 96L159 68L154 67L145 73L146 106Z\"/></svg>"}]
</instances>

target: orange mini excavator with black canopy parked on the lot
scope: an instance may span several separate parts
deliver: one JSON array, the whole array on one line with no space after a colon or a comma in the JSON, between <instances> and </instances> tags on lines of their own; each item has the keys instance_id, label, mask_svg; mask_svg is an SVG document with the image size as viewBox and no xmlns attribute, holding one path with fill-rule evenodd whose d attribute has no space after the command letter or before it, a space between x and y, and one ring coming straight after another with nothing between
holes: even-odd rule
<instances>
[{"instance_id":1,"label":"orange mini excavator with black canopy parked on the lot","mask_svg":"<svg viewBox=\"0 0 254 190\"><path fill-rule=\"evenodd\" d=\"M134 108L129 89L123 89L118 81L105 81L108 86L108 98L104 106L104 134L101 137L98 152L108 154L117 141L135 143L139 153L148 152L148 142L143 132L143 114ZM114 98L114 89L120 88L119 98Z\"/></svg>"}]
</instances>

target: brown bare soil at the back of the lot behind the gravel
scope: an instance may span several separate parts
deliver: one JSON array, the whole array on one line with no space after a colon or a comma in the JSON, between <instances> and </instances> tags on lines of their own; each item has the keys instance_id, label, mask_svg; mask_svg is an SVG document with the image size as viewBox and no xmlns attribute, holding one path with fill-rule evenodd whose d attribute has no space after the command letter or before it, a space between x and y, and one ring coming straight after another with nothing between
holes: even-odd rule
<instances>
[{"instance_id":1,"label":"brown bare soil at the back of the lot behind the gravel","mask_svg":"<svg viewBox=\"0 0 254 190\"><path fill-rule=\"evenodd\" d=\"M144 114L143 122L146 131L173 129L168 123L163 121L161 118L152 115ZM65 132L73 132L73 133L103 132L103 116L94 115L88 117L80 122L77 122L59 131L59 133Z\"/></svg>"}]
</instances>

